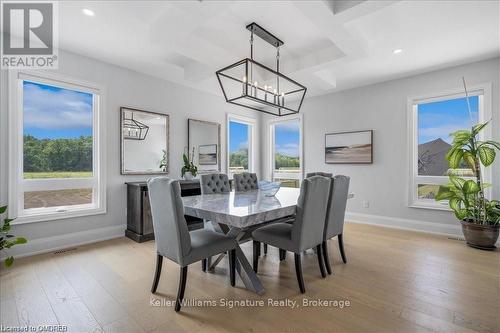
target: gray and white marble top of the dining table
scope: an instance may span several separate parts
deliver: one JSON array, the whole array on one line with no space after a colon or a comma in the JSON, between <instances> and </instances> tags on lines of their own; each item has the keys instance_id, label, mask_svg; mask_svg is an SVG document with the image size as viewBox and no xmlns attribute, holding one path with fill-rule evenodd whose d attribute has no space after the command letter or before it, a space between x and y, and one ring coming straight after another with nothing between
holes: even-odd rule
<instances>
[{"instance_id":1,"label":"gray and white marble top of the dining table","mask_svg":"<svg viewBox=\"0 0 500 333\"><path fill-rule=\"evenodd\" d=\"M255 224L295 214L300 189L282 187L269 197L260 190L182 197L184 214L232 227Z\"/></svg>"}]
</instances>

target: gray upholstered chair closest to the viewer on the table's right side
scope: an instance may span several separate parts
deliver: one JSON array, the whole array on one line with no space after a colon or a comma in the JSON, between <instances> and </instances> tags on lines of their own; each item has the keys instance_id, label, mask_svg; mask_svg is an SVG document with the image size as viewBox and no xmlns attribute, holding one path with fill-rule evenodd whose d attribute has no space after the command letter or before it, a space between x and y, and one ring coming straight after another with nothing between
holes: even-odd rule
<instances>
[{"instance_id":1,"label":"gray upholstered chair closest to the viewer on the table's right side","mask_svg":"<svg viewBox=\"0 0 500 333\"><path fill-rule=\"evenodd\" d=\"M252 232L254 239L253 268L255 272L258 270L259 262L257 248L260 247L260 242L262 242L295 254L295 272L302 293L305 293L301 263L301 253L303 251L316 247L321 276L326 276L321 245L323 243L330 182L330 178L321 176L304 179L300 187L297 213L293 223L274 223Z\"/></svg>"}]
</instances>

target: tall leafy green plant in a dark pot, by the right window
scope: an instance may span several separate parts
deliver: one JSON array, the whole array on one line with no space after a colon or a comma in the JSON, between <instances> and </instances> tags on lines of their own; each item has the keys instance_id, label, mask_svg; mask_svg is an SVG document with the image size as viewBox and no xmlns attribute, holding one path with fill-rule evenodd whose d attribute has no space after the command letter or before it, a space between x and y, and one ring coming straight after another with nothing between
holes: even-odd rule
<instances>
[{"instance_id":1,"label":"tall leafy green plant in a dark pot, by the right window","mask_svg":"<svg viewBox=\"0 0 500 333\"><path fill-rule=\"evenodd\" d=\"M500 202L485 198L485 188L490 186L483 180L482 167L495 161L500 143L492 140L480 141L478 134L489 122L477 124L471 130L451 133L453 143L446 154L450 169L467 165L475 179L465 179L450 172L450 182L439 187L436 200L448 200L450 208L462 224L462 231L469 246L492 250L498 239L500 227Z\"/></svg>"}]
</instances>

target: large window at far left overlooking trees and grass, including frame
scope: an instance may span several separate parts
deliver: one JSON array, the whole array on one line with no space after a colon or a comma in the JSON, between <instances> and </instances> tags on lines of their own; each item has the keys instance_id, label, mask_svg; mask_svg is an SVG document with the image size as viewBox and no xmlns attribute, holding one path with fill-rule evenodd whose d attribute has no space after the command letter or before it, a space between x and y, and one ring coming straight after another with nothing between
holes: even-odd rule
<instances>
[{"instance_id":1,"label":"large window at far left overlooking trees and grass, including frame","mask_svg":"<svg viewBox=\"0 0 500 333\"><path fill-rule=\"evenodd\" d=\"M9 205L16 221L104 212L101 89L22 72L11 87Z\"/></svg>"}]
</instances>

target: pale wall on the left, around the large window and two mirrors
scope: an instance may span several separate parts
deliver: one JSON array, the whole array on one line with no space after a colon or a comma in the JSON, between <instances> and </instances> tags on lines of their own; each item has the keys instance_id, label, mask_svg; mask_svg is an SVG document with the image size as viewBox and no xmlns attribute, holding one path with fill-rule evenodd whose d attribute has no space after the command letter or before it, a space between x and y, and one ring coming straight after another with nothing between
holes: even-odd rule
<instances>
[{"instance_id":1,"label":"pale wall on the left, around the large window and two mirrors","mask_svg":"<svg viewBox=\"0 0 500 333\"><path fill-rule=\"evenodd\" d=\"M2 70L0 114L0 203L7 202L7 75ZM107 213L67 220L16 225L13 232L29 239L14 253L62 247L85 239L109 238L123 234L126 224L127 181L146 180L147 176L120 175L120 106L129 106L170 115L170 176L180 177L182 153L187 146L187 119L218 122L221 128L222 161L225 158L226 113L259 118L255 112L228 104L218 97L117 67L80 55L60 52L59 70L66 76L102 84L107 89ZM214 74L214 80L215 80ZM259 143L259 141L257 142ZM258 147L256 147L258 150ZM259 151L257 151L259 154ZM223 162L223 171L225 170ZM258 171L258 170L257 170ZM51 237L51 238L47 238Z\"/></svg>"}]
</instances>

